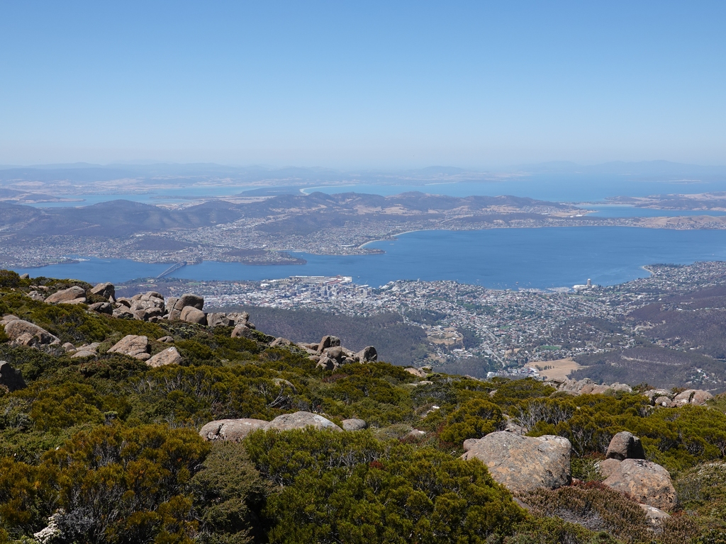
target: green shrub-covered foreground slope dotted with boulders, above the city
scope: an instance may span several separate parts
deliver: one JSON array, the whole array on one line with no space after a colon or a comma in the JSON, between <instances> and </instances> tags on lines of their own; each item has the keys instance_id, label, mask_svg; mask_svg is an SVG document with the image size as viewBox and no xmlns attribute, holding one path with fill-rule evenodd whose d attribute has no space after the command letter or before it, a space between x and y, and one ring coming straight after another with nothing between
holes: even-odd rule
<instances>
[{"instance_id":1,"label":"green shrub-covered foreground slope dotted with boulders, above the city","mask_svg":"<svg viewBox=\"0 0 726 544\"><path fill-rule=\"evenodd\" d=\"M73 304L38 300L69 291ZM351 362L345 331L340 345L295 345L247 318L232 327L192 306L176 318L176 302L155 322L118 318L101 311L113 305L109 293L0 272L0 541L726 540L722 397L703 405L691 394L666 408L647 384L577 395L531 379ZM184 321L200 314L210 325ZM121 353L129 336L146 339L145 351ZM234 425L250 429L224 434ZM613 458L624 431L640 438L645 459ZM566 445L563 482L502 484L477 457L485 438L502 435ZM672 495L652 495L668 506L648 510L605 477L630 461L672 479Z\"/></svg>"}]
</instances>

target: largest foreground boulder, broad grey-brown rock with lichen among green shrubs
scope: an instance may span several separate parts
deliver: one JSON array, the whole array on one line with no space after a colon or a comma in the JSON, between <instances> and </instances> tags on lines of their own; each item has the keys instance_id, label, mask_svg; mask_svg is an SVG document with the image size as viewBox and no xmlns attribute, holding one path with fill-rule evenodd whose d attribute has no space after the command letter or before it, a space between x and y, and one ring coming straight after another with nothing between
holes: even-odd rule
<instances>
[{"instance_id":1,"label":"largest foreground boulder, broad grey-brown rock with lichen among green shrubs","mask_svg":"<svg viewBox=\"0 0 726 544\"><path fill-rule=\"evenodd\" d=\"M462 459L479 459L489 474L510 491L556 489L571 482L570 441L563 437L523 437L497 431L480 440L467 440Z\"/></svg>"}]
</instances>

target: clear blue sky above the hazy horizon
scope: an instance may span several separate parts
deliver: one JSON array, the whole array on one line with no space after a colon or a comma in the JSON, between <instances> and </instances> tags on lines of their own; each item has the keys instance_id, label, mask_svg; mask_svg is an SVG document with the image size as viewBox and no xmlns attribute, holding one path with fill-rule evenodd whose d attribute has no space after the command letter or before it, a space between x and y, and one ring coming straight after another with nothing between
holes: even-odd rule
<instances>
[{"instance_id":1,"label":"clear blue sky above the hazy horizon","mask_svg":"<svg viewBox=\"0 0 726 544\"><path fill-rule=\"evenodd\" d=\"M0 3L0 164L726 164L724 1Z\"/></svg>"}]
</instances>

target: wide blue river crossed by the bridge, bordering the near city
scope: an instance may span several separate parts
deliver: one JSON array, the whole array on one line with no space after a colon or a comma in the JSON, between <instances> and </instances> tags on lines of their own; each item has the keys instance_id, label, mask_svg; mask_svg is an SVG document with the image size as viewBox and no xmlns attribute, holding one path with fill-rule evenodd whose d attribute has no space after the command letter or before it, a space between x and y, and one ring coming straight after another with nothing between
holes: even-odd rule
<instances>
[{"instance_id":1,"label":"wide blue river crossed by the bridge, bordering the near city","mask_svg":"<svg viewBox=\"0 0 726 544\"><path fill-rule=\"evenodd\" d=\"M307 255L306 265L253 266L205 262L174 277L262 280L287 276L353 276L374 287L398 279L449 279L494 289L571 287L588 278L613 285L648 276L643 265L726 260L726 231L672 231L629 227L507 228L419 231L372 242L379 255ZM153 277L168 265L90 259L81 263L16 269L30 276L76 278L91 283Z\"/></svg>"}]
</instances>

